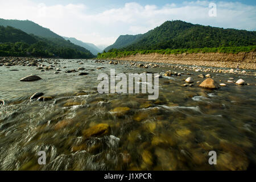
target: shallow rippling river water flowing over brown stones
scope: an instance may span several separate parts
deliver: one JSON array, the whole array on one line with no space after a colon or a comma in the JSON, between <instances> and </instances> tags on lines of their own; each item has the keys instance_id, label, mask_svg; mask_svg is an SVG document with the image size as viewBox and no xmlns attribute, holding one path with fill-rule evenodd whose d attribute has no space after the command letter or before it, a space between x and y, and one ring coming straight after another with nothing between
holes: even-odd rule
<instances>
[{"instance_id":1,"label":"shallow rippling river water flowing over brown stones","mask_svg":"<svg viewBox=\"0 0 256 182\"><path fill-rule=\"evenodd\" d=\"M173 68L51 62L59 74L0 67L0 99L5 101L0 106L1 170L256 169L255 76L210 73L216 81L243 78L250 85L226 83L207 90L195 84L204 80L200 73L175 69L192 75L159 78L159 98L148 100L147 94L99 94L97 76L109 75L110 69L160 73ZM79 67L89 75L65 73ZM28 75L42 80L19 81ZM181 86L187 77L194 86ZM30 100L35 92L52 99ZM88 134L97 127L105 128ZM45 165L38 164L39 151L46 152ZM209 151L216 151L216 165L208 163Z\"/></svg>"}]
</instances>

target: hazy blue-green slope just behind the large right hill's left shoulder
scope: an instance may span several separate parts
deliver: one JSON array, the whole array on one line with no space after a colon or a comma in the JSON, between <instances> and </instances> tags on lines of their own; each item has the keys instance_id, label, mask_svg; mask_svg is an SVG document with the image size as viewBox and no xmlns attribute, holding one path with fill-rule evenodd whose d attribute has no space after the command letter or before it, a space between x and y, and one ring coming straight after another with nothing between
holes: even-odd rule
<instances>
[{"instance_id":1,"label":"hazy blue-green slope just behind the large right hill's left shoulder","mask_svg":"<svg viewBox=\"0 0 256 182\"><path fill-rule=\"evenodd\" d=\"M137 42L139 39L142 38L142 34L138 35L120 35L118 39L115 41L114 44L112 44L109 47L106 47L104 51L109 51L110 49L120 49L126 46L129 46L135 42Z\"/></svg>"}]
</instances>

